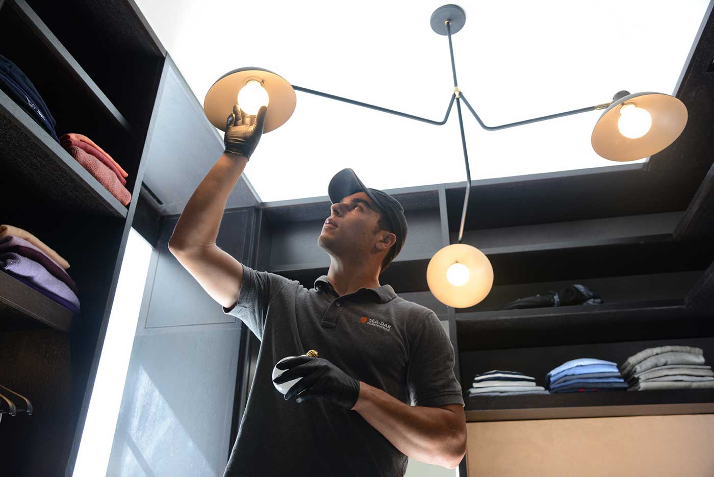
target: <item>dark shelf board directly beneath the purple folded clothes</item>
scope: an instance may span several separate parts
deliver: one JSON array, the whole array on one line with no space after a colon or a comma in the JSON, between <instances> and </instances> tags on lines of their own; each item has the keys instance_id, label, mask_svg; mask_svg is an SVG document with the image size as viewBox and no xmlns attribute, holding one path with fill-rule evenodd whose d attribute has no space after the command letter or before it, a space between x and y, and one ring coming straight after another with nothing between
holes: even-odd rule
<instances>
[{"instance_id":1,"label":"dark shelf board directly beneath the purple folded clothes","mask_svg":"<svg viewBox=\"0 0 714 477\"><path fill-rule=\"evenodd\" d=\"M39 322L69 331L74 313L51 298L2 271L0 290L0 328L25 328Z\"/></svg>"}]
</instances>

